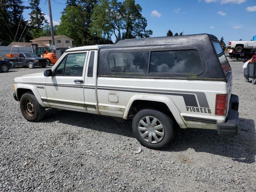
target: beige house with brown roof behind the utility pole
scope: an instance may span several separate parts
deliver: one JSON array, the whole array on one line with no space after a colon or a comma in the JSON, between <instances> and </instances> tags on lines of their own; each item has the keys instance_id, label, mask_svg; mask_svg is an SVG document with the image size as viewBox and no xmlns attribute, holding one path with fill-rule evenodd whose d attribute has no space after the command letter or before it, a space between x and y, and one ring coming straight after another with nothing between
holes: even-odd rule
<instances>
[{"instance_id":1,"label":"beige house with brown roof behind the utility pole","mask_svg":"<svg viewBox=\"0 0 256 192\"><path fill-rule=\"evenodd\" d=\"M42 36L31 40L33 44L45 44L46 46L52 46L52 37L51 36ZM72 48L73 39L65 35L54 35L55 46L57 48Z\"/></svg>"}]
</instances>

